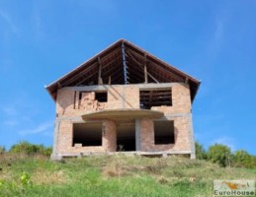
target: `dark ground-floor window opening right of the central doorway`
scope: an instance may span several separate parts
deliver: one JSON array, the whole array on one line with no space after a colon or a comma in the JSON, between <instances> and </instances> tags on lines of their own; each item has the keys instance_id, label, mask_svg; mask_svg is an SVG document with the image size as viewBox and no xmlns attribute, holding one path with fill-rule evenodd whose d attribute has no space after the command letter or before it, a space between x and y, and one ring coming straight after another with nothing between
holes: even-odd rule
<instances>
[{"instance_id":1,"label":"dark ground-floor window opening right of the central doorway","mask_svg":"<svg viewBox=\"0 0 256 197\"><path fill-rule=\"evenodd\" d=\"M174 144L174 121L154 121L154 144Z\"/></svg>"}]
</instances>

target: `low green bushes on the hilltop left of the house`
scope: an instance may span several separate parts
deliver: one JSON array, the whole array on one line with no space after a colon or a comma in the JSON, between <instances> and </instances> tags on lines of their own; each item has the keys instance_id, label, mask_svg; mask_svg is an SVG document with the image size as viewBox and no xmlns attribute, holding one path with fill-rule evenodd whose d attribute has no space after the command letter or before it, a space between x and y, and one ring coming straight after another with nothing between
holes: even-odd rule
<instances>
[{"instance_id":1,"label":"low green bushes on the hilltop left of the house","mask_svg":"<svg viewBox=\"0 0 256 197\"><path fill-rule=\"evenodd\" d=\"M43 145L34 145L27 141L21 141L19 144L15 144L10 149L11 153L23 153L27 155L42 154L43 156L49 156L51 148L45 148Z\"/></svg>"}]
</instances>

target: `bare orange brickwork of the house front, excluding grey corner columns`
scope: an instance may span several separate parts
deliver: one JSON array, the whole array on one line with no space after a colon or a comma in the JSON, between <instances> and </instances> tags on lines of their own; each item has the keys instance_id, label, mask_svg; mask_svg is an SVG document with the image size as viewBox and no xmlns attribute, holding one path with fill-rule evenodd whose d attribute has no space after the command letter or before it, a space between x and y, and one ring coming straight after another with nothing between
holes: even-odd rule
<instances>
[{"instance_id":1,"label":"bare orange brickwork of the house front, excluding grey corner columns","mask_svg":"<svg viewBox=\"0 0 256 197\"><path fill-rule=\"evenodd\" d=\"M152 119L140 120L140 141L142 152L191 151L191 99L189 85L172 83L172 106L153 106L152 110L165 113L165 119L174 120L175 144L155 145L154 125ZM102 146L72 146L73 122L71 117L104 109L139 108L139 88L136 85L117 85L108 89L108 101L99 102L95 92L81 93L71 88L63 88L57 92L56 115L60 124L55 129L57 143L54 154L106 153L117 150L117 126L114 120L103 121ZM171 117L171 114L178 114ZM179 114L182 114L179 116ZM188 114L188 115L186 115ZM118 120L117 120L118 121Z\"/></svg>"}]
</instances>

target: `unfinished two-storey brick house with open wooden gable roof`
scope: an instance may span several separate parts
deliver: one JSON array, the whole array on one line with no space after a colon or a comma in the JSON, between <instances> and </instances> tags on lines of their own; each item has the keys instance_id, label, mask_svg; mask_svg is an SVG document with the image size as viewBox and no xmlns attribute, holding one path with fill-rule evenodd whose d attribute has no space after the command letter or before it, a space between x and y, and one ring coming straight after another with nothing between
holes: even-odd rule
<instances>
[{"instance_id":1,"label":"unfinished two-storey brick house with open wooden gable roof","mask_svg":"<svg viewBox=\"0 0 256 197\"><path fill-rule=\"evenodd\" d=\"M90 154L195 158L200 82L125 39L46 87L56 103L52 160Z\"/></svg>"}]
</instances>

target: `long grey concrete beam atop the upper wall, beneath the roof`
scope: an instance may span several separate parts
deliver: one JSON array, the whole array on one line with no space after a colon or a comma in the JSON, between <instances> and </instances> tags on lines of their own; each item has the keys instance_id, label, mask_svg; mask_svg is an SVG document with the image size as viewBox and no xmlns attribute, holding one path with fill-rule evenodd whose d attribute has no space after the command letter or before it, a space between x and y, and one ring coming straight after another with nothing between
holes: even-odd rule
<instances>
[{"instance_id":1,"label":"long grey concrete beam atop the upper wall, beneath the roof","mask_svg":"<svg viewBox=\"0 0 256 197\"><path fill-rule=\"evenodd\" d=\"M72 91L107 91L108 89L112 89L115 87L137 87L141 90L148 89L160 89L160 88L171 88L175 84L185 85L183 82L175 82L175 83L163 83L163 84L132 84L132 85L98 85L98 86L81 86L81 87L64 87L63 89L68 89Z\"/></svg>"}]
</instances>

